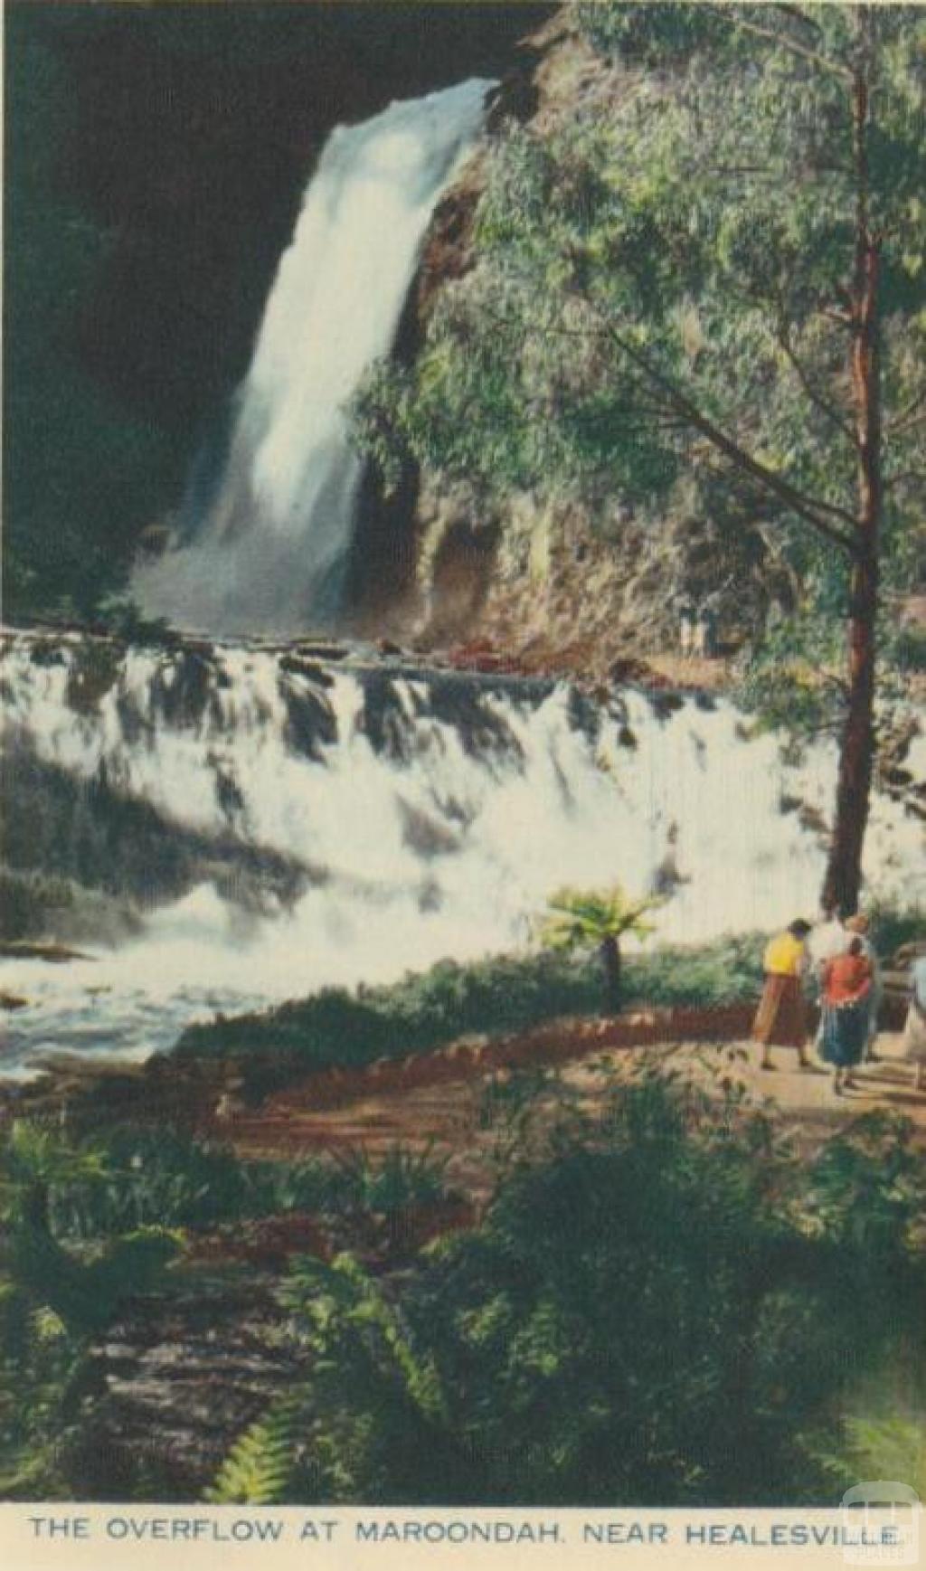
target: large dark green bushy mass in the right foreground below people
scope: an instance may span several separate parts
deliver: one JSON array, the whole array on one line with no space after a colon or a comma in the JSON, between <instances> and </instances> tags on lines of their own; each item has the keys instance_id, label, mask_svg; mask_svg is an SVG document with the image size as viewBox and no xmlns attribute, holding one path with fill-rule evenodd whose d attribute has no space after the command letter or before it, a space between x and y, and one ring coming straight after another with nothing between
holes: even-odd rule
<instances>
[{"instance_id":1,"label":"large dark green bushy mass in the right foreground below people","mask_svg":"<svg viewBox=\"0 0 926 1571\"><path fill-rule=\"evenodd\" d=\"M859 1477L826 1428L888 1455L859 1392L926 1376L907 1125L859 1120L808 1169L733 1092L645 1070L603 1123L570 1106L546 1130L483 1225L402 1279L295 1269L289 1477L259 1437L275 1499L824 1503ZM246 1497L253 1444L223 1499Z\"/></svg>"}]
</instances>

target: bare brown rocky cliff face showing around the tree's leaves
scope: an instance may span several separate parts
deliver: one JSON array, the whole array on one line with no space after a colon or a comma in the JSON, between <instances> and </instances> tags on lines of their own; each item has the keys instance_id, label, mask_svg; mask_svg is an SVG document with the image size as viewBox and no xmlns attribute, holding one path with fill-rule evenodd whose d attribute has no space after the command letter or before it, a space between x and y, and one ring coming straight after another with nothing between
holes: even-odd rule
<instances>
[{"instance_id":1,"label":"bare brown rocky cliff face showing around the tree's leaves","mask_svg":"<svg viewBox=\"0 0 926 1571\"><path fill-rule=\"evenodd\" d=\"M563 8L524 41L499 88L487 141L512 116L543 137L578 108L607 115L633 85L593 53ZM403 355L414 353L441 294L480 265L474 217L483 176L485 152L435 215ZM526 493L487 511L465 484L428 470L414 492L417 592L403 611L430 647L477 641L527 668L604 672L628 655L672 647L683 599L711 597L720 635L733 641L749 636L771 605L793 603L789 570L758 525L730 536L719 522L681 509L653 528L615 495L554 504Z\"/></svg>"}]
</instances>

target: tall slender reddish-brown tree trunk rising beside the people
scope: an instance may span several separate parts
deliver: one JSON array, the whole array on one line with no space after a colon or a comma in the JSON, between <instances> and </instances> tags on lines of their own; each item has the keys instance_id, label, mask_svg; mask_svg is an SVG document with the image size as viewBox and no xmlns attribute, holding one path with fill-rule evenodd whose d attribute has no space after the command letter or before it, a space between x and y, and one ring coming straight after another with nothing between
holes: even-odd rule
<instances>
[{"instance_id":1,"label":"tall slender reddish-brown tree trunk rising beside the people","mask_svg":"<svg viewBox=\"0 0 926 1571\"><path fill-rule=\"evenodd\" d=\"M844 911L859 903L862 847L868 825L874 768L874 658L879 580L880 357L877 320L879 244L868 214L868 83L873 16L859 8L859 63L854 86L855 134L855 280L852 300L852 393L859 449L859 528L849 602L849 693L840 749L837 812L822 897Z\"/></svg>"}]
</instances>

